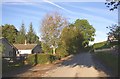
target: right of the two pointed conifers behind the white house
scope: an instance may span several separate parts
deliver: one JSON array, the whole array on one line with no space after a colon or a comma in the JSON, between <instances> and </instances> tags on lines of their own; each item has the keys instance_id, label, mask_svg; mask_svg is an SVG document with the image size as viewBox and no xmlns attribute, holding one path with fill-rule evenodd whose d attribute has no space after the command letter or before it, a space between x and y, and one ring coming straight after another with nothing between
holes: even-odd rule
<instances>
[{"instance_id":1,"label":"right of the two pointed conifers behind the white house","mask_svg":"<svg viewBox=\"0 0 120 79\"><path fill-rule=\"evenodd\" d=\"M39 37L35 34L32 22L30 23L29 31L27 33L27 42L28 43L37 43L39 41Z\"/></svg>"}]
</instances>

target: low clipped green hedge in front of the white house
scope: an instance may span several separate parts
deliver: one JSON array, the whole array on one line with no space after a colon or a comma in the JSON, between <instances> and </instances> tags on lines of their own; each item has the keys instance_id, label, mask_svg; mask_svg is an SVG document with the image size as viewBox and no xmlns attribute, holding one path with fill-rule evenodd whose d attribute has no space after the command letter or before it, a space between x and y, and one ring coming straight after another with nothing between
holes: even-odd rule
<instances>
[{"instance_id":1,"label":"low clipped green hedge in front of the white house","mask_svg":"<svg viewBox=\"0 0 120 79\"><path fill-rule=\"evenodd\" d=\"M38 64L47 64L52 63L57 58L54 55L51 54L37 54L37 63ZM35 55L31 54L27 57L26 60L29 64L35 64Z\"/></svg>"}]
</instances>

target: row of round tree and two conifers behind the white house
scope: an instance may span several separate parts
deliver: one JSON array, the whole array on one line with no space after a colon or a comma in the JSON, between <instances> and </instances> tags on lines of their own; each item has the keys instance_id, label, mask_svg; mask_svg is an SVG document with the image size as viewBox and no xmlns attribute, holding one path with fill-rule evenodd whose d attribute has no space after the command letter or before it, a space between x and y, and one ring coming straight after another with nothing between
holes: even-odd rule
<instances>
[{"instance_id":1,"label":"row of round tree and two conifers behind the white house","mask_svg":"<svg viewBox=\"0 0 120 79\"><path fill-rule=\"evenodd\" d=\"M24 23L22 23L20 30L17 30L14 25L2 25L2 37L7 38L10 43L16 44L24 44L25 40L29 44L39 42L39 37L34 32L32 23L30 23L28 32L25 30Z\"/></svg>"}]
</instances>

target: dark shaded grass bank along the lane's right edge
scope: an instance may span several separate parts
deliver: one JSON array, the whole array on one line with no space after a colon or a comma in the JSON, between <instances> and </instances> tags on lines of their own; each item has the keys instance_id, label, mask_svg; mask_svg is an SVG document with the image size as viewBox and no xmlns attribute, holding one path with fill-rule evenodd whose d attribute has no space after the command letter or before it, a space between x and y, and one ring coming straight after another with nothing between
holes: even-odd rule
<instances>
[{"instance_id":1,"label":"dark shaded grass bank along the lane's right edge","mask_svg":"<svg viewBox=\"0 0 120 79\"><path fill-rule=\"evenodd\" d=\"M95 52L97 56L107 67L111 68L115 74L118 72L118 56L114 56L109 51Z\"/></svg>"}]
</instances>

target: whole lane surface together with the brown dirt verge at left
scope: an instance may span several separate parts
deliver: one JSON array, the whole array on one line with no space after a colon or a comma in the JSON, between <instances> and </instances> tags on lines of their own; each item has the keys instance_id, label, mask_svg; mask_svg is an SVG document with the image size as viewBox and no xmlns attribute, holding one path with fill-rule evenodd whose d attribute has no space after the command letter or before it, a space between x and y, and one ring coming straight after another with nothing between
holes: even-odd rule
<instances>
[{"instance_id":1,"label":"whole lane surface together with the brown dirt verge at left","mask_svg":"<svg viewBox=\"0 0 120 79\"><path fill-rule=\"evenodd\" d=\"M55 64L22 67L4 77L109 77L106 68L90 53L70 55Z\"/></svg>"}]
</instances>

